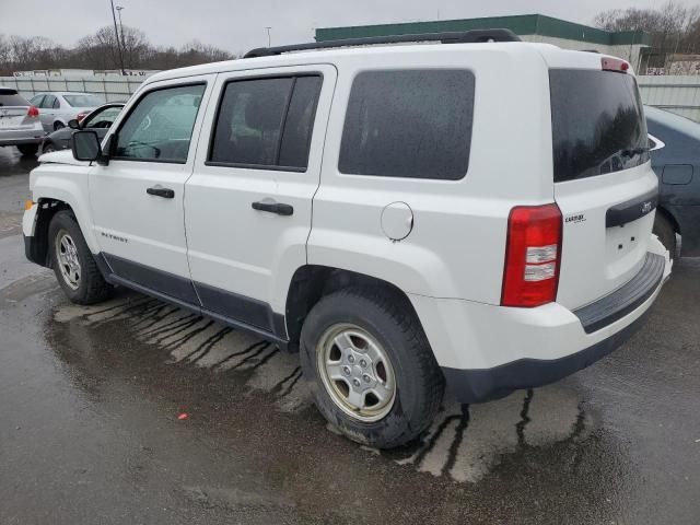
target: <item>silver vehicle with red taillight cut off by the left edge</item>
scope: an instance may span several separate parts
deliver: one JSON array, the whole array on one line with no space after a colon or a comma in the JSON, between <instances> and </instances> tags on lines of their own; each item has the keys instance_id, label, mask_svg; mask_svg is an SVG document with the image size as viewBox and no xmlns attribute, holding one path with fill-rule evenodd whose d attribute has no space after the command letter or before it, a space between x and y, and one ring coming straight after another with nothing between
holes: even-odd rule
<instances>
[{"instance_id":1,"label":"silver vehicle with red taillight cut off by the left edge","mask_svg":"<svg viewBox=\"0 0 700 525\"><path fill-rule=\"evenodd\" d=\"M0 145L16 145L23 155L34 155L44 135L39 110L16 90L0 85Z\"/></svg>"}]
</instances>

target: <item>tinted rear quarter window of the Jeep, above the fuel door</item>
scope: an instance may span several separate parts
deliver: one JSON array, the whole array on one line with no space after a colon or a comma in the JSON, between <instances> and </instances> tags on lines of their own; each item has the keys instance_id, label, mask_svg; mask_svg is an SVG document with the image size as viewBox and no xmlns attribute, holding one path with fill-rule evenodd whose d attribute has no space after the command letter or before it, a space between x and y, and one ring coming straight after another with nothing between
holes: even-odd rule
<instances>
[{"instance_id":1,"label":"tinted rear quarter window of the Jeep, above the fuel door","mask_svg":"<svg viewBox=\"0 0 700 525\"><path fill-rule=\"evenodd\" d=\"M341 173L457 180L467 173L474 117L467 70L365 71L350 91Z\"/></svg>"}]
</instances>

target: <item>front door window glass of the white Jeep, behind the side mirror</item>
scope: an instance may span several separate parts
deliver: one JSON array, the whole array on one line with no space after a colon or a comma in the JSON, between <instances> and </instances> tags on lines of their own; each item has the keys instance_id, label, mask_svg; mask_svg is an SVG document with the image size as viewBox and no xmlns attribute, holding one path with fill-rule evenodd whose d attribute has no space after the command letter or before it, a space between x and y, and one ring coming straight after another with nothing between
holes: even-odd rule
<instances>
[{"instance_id":1,"label":"front door window glass of the white Jeep, behind the side mirror","mask_svg":"<svg viewBox=\"0 0 700 525\"><path fill-rule=\"evenodd\" d=\"M143 95L117 131L114 156L187 162L206 84L154 90Z\"/></svg>"}]
</instances>

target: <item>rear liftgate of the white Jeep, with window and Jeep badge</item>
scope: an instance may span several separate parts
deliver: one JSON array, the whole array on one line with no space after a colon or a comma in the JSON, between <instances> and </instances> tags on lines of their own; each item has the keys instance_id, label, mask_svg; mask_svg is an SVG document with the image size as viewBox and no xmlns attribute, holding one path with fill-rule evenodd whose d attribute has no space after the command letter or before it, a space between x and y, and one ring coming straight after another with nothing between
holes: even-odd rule
<instances>
[{"instance_id":1,"label":"rear liftgate of the white Jeep, with window and Jeep badge","mask_svg":"<svg viewBox=\"0 0 700 525\"><path fill-rule=\"evenodd\" d=\"M549 71L555 200L563 215L557 302L570 310L640 271L656 208L637 81L626 62L602 63L617 71Z\"/></svg>"}]
</instances>

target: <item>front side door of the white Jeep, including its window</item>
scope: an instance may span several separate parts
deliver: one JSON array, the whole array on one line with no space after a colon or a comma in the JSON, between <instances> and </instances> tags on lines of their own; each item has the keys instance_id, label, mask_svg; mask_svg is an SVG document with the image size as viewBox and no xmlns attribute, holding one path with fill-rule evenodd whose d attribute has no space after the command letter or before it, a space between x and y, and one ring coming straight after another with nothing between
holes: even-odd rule
<instances>
[{"instance_id":1,"label":"front side door of the white Jeep, including its window","mask_svg":"<svg viewBox=\"0 0 700 525\"><path fill-rule=\"evenodd\" d=\"M194 304L183 199L201 126L199 107L213 78L150 85L107 138L109 164L90 173L93 228L113 272Z\"/></svg>"}]
</instances>

